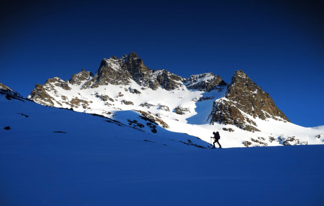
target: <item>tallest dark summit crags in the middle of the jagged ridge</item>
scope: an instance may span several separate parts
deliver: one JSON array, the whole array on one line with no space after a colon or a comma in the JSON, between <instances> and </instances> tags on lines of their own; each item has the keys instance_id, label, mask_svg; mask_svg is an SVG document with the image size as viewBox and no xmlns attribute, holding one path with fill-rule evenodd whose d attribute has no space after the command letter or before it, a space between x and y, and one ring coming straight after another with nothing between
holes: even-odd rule
<instances>
[{"instance_id":1,"label":"tallest dark summit crags in the middle of the jagged ridge","mask_svg":"<svg viewBox=\"0 0 324 206\"><path fill-rule=\"evenodd\" d=\"M186 80L186 78L164 69L149 69L144 65L143 60L135 52L132 52L120 59L115 56L103 59L94 75L82 69L81 72L72 76L69 83L72 85L82 84L82 89L87 89L105 85L131 85L131 79L143 89L150 88L152 90L158 88L178 89L183 86L182 82Z\"/></svg>"}]
</instances>

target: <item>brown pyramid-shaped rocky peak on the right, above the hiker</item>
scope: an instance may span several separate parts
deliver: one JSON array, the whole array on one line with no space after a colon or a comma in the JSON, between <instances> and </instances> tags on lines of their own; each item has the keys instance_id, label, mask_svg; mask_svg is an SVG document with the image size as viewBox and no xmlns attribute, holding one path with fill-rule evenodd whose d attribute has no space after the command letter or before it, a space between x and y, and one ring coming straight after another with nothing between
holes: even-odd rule
<instances>
[{"instance_id":1,"label":"brown pyramid-shaped rocky peak on the right, above the hiker","mask_svg":"<svg viewBox=\"0 0 324 206\"><path fill-rule=\"evenodd\" d=\"M259 131L255 128L257 125L253 118L289 121L269 94L258 87L242 70L235 72L224 98L214 102L209 117L211 123L235 125L253 132Z\"/></svg>"}]
</instances>

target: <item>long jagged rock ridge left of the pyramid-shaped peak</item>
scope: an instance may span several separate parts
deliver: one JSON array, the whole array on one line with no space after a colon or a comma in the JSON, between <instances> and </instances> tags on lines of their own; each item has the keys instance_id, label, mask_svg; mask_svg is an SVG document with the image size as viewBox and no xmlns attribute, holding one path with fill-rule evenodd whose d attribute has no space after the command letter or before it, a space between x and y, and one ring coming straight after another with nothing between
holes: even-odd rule
<instances>
[{"instance_id":1,"label":"long jagged rock ridge left of the pyramid-shaped peak","mask_svg":"<svg viewBox=\"0 0 324 206\"><path fill-rule=\"evenodd\" d=\"M62 106L62 103L68 103L71 107L77 108L80 105L75 104L76 101L86 101L87 99L74 98L69 100L68 97L62 96L62 101L57 101L56 98L49 95L49 92L53 92L54 96L59 97L60 95L55 87L69 91L72 86L81 86L81 90L86 90L107 85L128 86L131 85L131 80L142 86L142 90L163 88L171 91L183 88L185 87L183 83L188 83L188 89L210 92L212 90L221 91L226 86L226 83L219 76L214 76L212 73L192 75L187 79L164 69L151 70L144 65L143 60L135 52L132 52L120 59L115 56L103 59L95 74L82 69L81 72L74 74L70 80L63 81L58 77L47 79L44 85L37 84L35 86L28 99L47 106L55 106L56 104ZM133 94L141 94L139 90L131 87L127 90ZM89 108L86 106L87 103L85 102L82 107Z\"/></svg>"}]
</instances>

